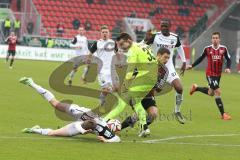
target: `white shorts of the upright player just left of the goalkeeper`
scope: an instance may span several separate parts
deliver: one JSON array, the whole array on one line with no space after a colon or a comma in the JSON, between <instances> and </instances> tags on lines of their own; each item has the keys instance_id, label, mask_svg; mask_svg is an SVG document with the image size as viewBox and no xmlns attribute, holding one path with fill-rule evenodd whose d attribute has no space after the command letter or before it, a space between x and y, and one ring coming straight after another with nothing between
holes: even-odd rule
<instances>
[{"instance_id":1,"label":"white shorts of the upright player just left of the goalkeeper","mask_svg":"<svg viewBox=\"0 0 240 160\"><path fill-rule=\"evenodd\" d=\"M112 91L119 85L119 78L116 71L104 71L98 74L98 82L101 88L107 88Z\"/></svg>"}]
</instances>

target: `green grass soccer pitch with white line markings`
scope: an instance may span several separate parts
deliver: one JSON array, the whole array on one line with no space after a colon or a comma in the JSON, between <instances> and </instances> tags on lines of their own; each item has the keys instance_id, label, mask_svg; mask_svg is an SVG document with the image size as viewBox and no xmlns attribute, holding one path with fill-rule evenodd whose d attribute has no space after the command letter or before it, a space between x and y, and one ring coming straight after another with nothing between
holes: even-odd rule
<instances>
[{"instance_id":1,"label":"green grass soccer pitch with white line markings","mask_svg":"<svg viewBox=\"0 0 240 160\"><path fill-rule=\"evenodd\" d=\"M138 138L137 127L121 133L122 142L103 144L95 135L73 138L23 134L21 130L36 124L57 128L69 122L56 117L55 111L35 91L18 82L32 77L52 91L59 99L71 99L87 107L96 106L97 99L58 93L49 87L49 76L61 63L16 60L14 69L0 61L0 159L1 160L238 160L240 157L240 76L223 74L222 99L232 120L220 120L214 98L195 93L189 96L192 83L206 85L203 71L187 71L182 78L184 102L182 113L187 123L179 124L172 117L174 92L157 98L161 115L150 126L151 136ZM73 84L81 84L80 72ZM90 84L91 87L97 84ZM129 113L132 113L128 109ZM124 117L125 114L122 115Z\"/></svg>"}]
</instances>

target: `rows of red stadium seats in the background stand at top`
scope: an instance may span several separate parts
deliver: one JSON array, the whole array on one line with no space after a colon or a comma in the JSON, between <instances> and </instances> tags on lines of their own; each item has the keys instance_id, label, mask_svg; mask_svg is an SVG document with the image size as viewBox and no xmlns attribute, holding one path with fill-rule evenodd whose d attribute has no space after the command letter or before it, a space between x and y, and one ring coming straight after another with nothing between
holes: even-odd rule
<instances>
[{"instance_id":1,"label":"rows of red stadium seats in the background stand at top","mask_svg":"<svg viewBox=\"0 0 240 160\"><path fill-rule=\"evenodd\" d=\"M157 29L160 27L161 18L169 18L172 20L173 31L180 26L184 32L188 32L205 15L208 8L213 4L221 7L224 0L194 0L191 4L184 5L184 8L178 1L154 0L154 3L150 3L145 0L106 0L101 3L101 0L95 0L89 4L86 0L33 0L41 14L43 27L50 36L56 36L57 23L63 22L65 28L63 37L72 37L76 33L72 21L78 18L81 25L87 20L91 22L88 35L92 36L89 39L98 37L91 32L98 31L101 25L106 24L112 30L117 20L130 16L132 11L136 12L138 18L151 18ZM151 10L157 7L160 7L161 11L150 16ZM11 8L15 10L17 7L13 5ZM180 15L179 9L187 9L188 15Z\"/></svg>"}]
</instances>

